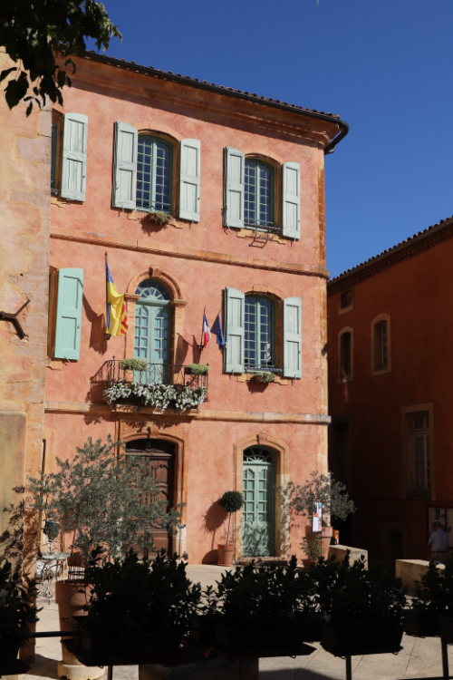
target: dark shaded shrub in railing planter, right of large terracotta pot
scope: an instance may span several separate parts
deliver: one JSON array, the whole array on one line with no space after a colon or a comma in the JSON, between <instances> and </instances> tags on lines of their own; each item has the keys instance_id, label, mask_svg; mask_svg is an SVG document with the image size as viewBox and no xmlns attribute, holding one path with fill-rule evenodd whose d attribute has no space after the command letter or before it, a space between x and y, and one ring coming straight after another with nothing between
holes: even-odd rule
<instances>
[{"instance_id":1,"label":"dark shaded shrub in railing planter, right of large terracotta pot","mask_svg":"<svg viewBox=\"0 0 453 680\"><path fill-rule=\"evenodd\" d=\"M175 656L201 597L201 586L186 574L185 562L160 550L155 559L139 559L130 550L109 562L92 551L85 573L90 586L86 617L72 617L84 661L115 657Z\"/></svg>"}]
</instances>

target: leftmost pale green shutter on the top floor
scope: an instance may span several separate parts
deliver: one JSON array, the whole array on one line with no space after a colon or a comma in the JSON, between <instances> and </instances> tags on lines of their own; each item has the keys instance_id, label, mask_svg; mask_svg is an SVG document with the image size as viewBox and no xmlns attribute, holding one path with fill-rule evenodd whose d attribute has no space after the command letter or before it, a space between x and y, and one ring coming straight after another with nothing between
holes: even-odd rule
<instances>
[{"instance_id":1,"label":"leftmost pale green shutter on the top floor","mask_svg":"<svg viewBox=\"0 0 453 680\"><path fill-rule=\"evenodd\" d=\"M63 130L62 198L85 200L88 116L65 113Z\"/></svg>"}]
</instances>

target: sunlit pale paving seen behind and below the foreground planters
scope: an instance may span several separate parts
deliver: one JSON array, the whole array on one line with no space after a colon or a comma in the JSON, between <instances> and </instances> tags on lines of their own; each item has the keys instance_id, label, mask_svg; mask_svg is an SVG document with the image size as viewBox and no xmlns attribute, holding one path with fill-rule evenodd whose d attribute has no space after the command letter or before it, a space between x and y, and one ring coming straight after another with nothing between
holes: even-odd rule
<instances>
[{"instance_id":1,"label":"sunlit pale paving seen behind and below the foreground planters","mask_svg":"<svg viewBox=\"0 0 453 680\"><path fill-rule=\"evenodd\" d=\"M223 568L217 566L188 567L188 576L200 582L205 588L220 578ZM40 600L38 630L58 630L58 611L54 602ZM311 656L270 658L260 660L260 680L332 680L345 677L345 662L335 658L321 648L313 645L316 651ZM442 677L442 662L439 638L419 639L403 636L403 649L398 656L381 654L375 656L353 656L352 676L354 680L396 680L397 678ZM61 658L58 639L38 638L36 640L36 660L26 675L20 680L56 680L57 661ZM450 675L453 675L453 646L449 647L448 659ZM116 666L114 680L138 680L138 666ZM213 678L216 680L216 678Z\"/></svg>"}]
</instances>

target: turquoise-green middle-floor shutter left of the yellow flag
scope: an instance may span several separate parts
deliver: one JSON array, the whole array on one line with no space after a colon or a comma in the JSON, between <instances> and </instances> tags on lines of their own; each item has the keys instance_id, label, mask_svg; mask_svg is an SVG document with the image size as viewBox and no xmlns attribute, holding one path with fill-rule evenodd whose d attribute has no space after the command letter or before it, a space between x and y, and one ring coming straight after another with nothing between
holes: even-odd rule
<instances>
[{"instance_id":1,"label":"turquoise-green middle-floor shutter left of the yellow flag","mask_svg":"<svg viewBox=\"0 0 453 680\"><path fill-rule=\"evenodd\" d=\"M76 361L81 353L83 269L60 269L55 326L57 359Z\"/></svg>"}]
</instances>

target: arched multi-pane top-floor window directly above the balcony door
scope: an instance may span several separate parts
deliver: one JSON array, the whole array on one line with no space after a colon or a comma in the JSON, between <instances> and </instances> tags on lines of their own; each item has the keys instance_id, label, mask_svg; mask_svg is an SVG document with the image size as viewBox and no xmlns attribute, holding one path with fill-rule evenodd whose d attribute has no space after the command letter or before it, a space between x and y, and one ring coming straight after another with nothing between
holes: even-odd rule
<instances>
[{"instance_id":1,"label":"arched multi-pane top-floor window directly above the balcony door","mask_svg":"<svg viewBox=\"0 0 453 680\"><path fill-rule=\"evenodd\" d=\"M173 147L148 134L139 135L137 159L138 209L171 212Z\"/></svg>"}]
</instances>

